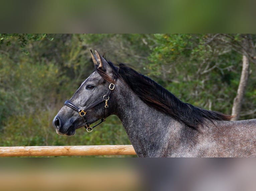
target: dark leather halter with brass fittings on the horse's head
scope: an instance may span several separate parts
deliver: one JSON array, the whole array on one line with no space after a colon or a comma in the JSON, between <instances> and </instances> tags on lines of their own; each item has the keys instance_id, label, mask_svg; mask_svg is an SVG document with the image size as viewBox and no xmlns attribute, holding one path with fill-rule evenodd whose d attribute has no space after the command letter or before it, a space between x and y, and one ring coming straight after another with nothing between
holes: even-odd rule
<instances>
[{"instance_id":1,"label":"dark leather halter with brass fittings on the horse's head","mask_svg":"<svg viewBox=\"0 0 256 191\"><path fill-rule=\"evenodd\" d=\"M116 81L117 79L117 76L114 75L114 82ZM109 95L111 93L112 90L114 90L115 88L115 84L111 83L109 85L109 89L108 89L108 92L106 95L103 96L103 98L95 101L94 103L92 103L91 105L87 106L85 109L80 109L78 108L74 103L72 103L70 100L66 100L64 105L78 111L78 113L80 114L81 117L83 117L84 121L85 121L85 128L88 132L92 132L93 128L98 126L99 124L101 124L102 122L104 122L107 118L107 115L108 115L108 100L109 100ZM93 127L90 127L90 123L86 120L85 118L85 115L86 115L86 112L95 107L96 105L100 104L101 102L105 101L105 117L101 119L101 122L99 122L98 124L94 125Z\"/></svg>"}]
</instances>

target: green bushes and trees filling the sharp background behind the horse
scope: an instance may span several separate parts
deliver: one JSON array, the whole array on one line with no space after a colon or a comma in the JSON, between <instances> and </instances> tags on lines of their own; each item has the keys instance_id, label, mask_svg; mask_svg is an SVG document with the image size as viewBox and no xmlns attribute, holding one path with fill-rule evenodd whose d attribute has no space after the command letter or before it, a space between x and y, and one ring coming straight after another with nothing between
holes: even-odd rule
<instances>
[{"instance_id":1,"label":"green bushes and trees filling the sharp background behind the horse","mask_svg":"<svg viewBox=\"0 0 256 191\"><path fill-rule=\"evenodd\" d=\"M132 64L184 102L231 114L242 70L240 34L1 34L0 146L130 144L116 116L92 133L56 134L52 119L93 72L90 49ZM256 37L251 36L255 44ZM240 47L241 48L241 47ZM256 73L241 119L256 117ZM253 112L254 111L254 112Z\"/></svg>"}]
</instances>

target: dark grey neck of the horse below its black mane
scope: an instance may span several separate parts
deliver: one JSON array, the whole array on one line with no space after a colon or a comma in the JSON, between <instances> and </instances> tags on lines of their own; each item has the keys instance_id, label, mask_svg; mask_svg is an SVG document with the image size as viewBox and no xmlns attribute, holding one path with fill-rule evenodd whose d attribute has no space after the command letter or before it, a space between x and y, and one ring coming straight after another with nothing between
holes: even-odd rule
<instances>
[{"instance_id":1,"label":"dark grey neck of the horse below its black mane","mask_svg":"<svg viewBox=\"0 0 256 191\"><path fill-rule=\"evenodd\" d=\"M128 86L118 86L119 83L114 114L121 120L137 155L164 156L169 141L180 140L184 124L148 106Z\"/></svg>"}]
</instances>

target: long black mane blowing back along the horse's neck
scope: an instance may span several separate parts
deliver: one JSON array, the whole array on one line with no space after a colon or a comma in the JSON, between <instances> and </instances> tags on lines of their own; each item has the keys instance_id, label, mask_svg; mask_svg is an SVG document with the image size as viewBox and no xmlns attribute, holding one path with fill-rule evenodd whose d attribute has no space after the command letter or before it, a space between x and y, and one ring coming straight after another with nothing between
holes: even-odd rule
<instances>
[{"instance_id":1,"label":"long black mane blowing back along the horse's neck","mask_svg":"<svg viewBox=\"0 0 256 191\"><path fill-rule=\"evenodd\" d=\"M114 73L121 78L149 106L171 115L187 126L198 129L204 120L230 120L232 116L209 111L184 103L152 79L136 72L126 64L118 63L119 71L111 62ZM117 72L118 71L118 72ZM111 79L106 79L110 81Z\"/></svg>"}]
</instances>

